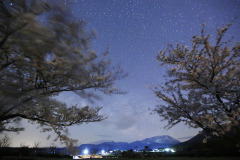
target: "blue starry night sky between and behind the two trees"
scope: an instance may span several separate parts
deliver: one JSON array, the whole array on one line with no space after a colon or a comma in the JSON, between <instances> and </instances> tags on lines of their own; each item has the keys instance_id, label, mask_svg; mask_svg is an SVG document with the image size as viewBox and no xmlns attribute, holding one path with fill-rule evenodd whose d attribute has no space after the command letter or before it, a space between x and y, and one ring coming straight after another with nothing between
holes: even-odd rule
<instances>
[{"instance_id":1,"label":"blue starry night sky between and behind the two trees","mask_svg":"<svg viewBox=\"0 0 240 160\"><path fill-rule=\"evenodd\" d=\"M199 35L201 24L207 33L216 34L216 28L234 22L226 37L234 36L240 42L239 0L74 0L66 4L72 14L83 19L89 30L96 32L92 48L99 54L109 50L114 65L128 73L128 77L116 82L116 86L128 93L101 97L95 103L81 99L74 93L62 93L58 100L71 104L102 106L101 114L108 118L102 122L70 127L69 134L79 144L99 140L132 142L144 138L170 135L181 139L194 136L199 130L178 124L165 130L166 122L151 114L160 103L147 86L164 83L166 68L156 61L159 50L168 43L190 45L194 34ZM35 125L25 121L26 131L11 134L13 146L57 145L46 140L47 133L40 133ZM181 139L183 140L183 139Z\"/></svg>"}]
</instances>

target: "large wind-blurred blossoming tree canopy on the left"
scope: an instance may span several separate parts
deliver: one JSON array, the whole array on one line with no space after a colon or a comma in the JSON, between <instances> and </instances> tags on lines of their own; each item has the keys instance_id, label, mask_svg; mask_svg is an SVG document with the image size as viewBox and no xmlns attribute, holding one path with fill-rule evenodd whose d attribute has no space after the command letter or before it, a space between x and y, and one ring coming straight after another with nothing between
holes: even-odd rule
<instances>
[{"instance_id":1,"label":"large wind-blurred blossoming tree canopy on the left","mask_svg":"<svg viewBox=\"0 0 240 160\"><path fill-rule=\"evenodd\" d=\"M27 119L69 140L67 126L104 119L100 107L68 107L52 98L67 91L93 97L89 89L121 93L114 82L125 74L107 52L91 49L93 37L63 3L0 2L0 132L22 131L13 122Z\"/></svg>"}]
</instances>

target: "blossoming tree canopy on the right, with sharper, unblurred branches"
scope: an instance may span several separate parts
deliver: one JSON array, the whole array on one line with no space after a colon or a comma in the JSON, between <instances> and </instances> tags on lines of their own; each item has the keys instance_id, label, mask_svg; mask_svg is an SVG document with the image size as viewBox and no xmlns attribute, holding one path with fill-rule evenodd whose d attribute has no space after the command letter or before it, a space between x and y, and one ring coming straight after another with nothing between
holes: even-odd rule
<instances>
[{"instance_id":1,"label":"blossoming tree canopy on the right, with sharper, unblurred branches","mask_svg":"<svg viewBox=\"0 0 240 160\"><path fill-rule=\"evenodd\" d=\"M203 25L192 46L170 44L157 55L168 65L169 79L154 90L166 127L184 122L215 136L240 133L240 43L224 37L230 26L218 28L213 40Z\"/></svg>"}]
</instances>

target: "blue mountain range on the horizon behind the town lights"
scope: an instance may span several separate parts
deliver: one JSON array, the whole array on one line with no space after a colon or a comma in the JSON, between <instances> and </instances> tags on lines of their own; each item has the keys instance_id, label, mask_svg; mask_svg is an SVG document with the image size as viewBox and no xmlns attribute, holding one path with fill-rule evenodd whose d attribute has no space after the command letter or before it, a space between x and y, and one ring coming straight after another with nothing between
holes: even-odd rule
<instances>
[{"instance_id":1,"label":"blue mountain range on the horizon behind the town lights","mask_svg":"<svg viewBox=\"0 0 240 160\"><path fill-rule=\"evenodd\" d=\"M141 141L135 141L132 143L127 142L103 142L99 144L82 144L78 148L80 150L129 150L129 149L144 149L145 146L149 146L150 149L170 147L180 143L178 140L172 138L171 136L155 136L151 138L146 138Z\"/></svg>"}]
</instances>

